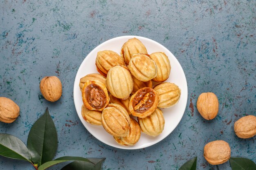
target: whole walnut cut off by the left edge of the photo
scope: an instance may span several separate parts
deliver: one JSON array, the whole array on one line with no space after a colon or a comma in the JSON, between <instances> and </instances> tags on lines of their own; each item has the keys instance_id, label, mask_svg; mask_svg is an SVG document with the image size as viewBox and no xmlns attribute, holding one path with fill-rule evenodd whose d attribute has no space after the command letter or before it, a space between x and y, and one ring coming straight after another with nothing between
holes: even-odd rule
<instances>
[{"instance_id":1,"label":"whole walnut cut off by the left edge of the photo","mask_svg":"<svg viewBox=\"0 0 256 170\"><path fill-rule=\"evenodd\" d=\"M20 115L20 107L11 99L0 97L0 121L12 123Z\"/></svg>"}]
</instances>

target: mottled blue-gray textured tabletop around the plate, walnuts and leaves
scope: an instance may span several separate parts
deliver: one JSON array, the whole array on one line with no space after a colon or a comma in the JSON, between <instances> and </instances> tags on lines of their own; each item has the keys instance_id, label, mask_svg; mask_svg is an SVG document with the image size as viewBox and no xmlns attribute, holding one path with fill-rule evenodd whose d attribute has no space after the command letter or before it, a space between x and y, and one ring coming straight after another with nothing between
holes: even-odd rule
<instances>
[{"instance_id":1,"label":"mottled blue-gray textured tabletop around the plate, walnuts and leaves","mask_svg":"<svg viewBox=\"0 0 256 170\"><path fill-rule=\"evenodd\" d=\"M48 106L58 131L58 152L106 157L103 170L177 170L198 156L198 170L212 166L204 145L222 139L233 157L256 161L256 144L234 134L234 122L256 115L256 1L254 0L2 0L0 2L0 96L20 106L12 124L0 132L26 143L28 132ZM153 39L169 49L186 74L189 96L177 128L154 146L120 150L95 139L81 124L73 102L76 71L102 42L121 35ZM40 79L56 75L63 95L47 102ZM204 120L196 109L198 95L212 91L220 102L218 116ZM54 167L52 169L58 169ZM0 157L0 170L33 170L24 161Z\"/></svg>"}]
</instances>

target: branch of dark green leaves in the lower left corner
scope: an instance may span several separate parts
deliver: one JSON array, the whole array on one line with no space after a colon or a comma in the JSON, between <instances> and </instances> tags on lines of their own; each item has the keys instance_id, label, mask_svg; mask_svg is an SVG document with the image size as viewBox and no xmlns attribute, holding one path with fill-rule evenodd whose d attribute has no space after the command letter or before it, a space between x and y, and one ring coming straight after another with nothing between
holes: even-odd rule
<instances>
[{"instance_id":1,"label":"branch of dark green leaves in the lower left corner","mask_svg":"<svg viewBox=\"0 0 256 170\"><path fill-rule=\"evenodd\" d=\"M36 170L45 170L58 163L72 161L61 170L101 170L105 158L60 157L52 160L58 146L57 131L48 108L32 126L27 146L17 137L0 133L0 155L28 161Z\"/></svg>"}]
</instances>

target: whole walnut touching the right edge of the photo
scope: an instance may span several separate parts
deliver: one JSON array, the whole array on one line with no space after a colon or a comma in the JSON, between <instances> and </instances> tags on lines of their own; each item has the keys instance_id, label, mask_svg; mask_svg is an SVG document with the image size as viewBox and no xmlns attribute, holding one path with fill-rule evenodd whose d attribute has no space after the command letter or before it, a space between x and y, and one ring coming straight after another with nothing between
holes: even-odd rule
<instances>
[{"instance_id":1,"label":"whole walnut touching the right edge of the photo","mask_svg":"<svg viewBox=\"0 0 256 170\"><path fill-rule=\"evenodd\" d=\"M244 116L234 124L236 136L247 139L256 135L256 116Z\"/></svg>"}]
</instances>

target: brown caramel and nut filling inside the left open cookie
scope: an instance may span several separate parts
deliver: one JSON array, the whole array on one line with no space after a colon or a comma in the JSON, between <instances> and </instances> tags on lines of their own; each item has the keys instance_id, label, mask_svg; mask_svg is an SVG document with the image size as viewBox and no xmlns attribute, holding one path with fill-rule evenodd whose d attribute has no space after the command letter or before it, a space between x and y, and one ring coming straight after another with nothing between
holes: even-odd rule
<instances>
[{"instance_id":1,"label":"brown caramel and nut filling inside the left open cookie","mask_svg":"<svg viewBox=\"0 0 256 170\"><path fill-rule=\"evenodd\" d=\"M106 95L97 84L90 84L85 88L85 97L93 108L101 109L106 105Z\"/></svg>"}]
</instances>

